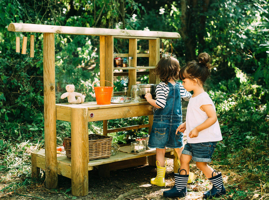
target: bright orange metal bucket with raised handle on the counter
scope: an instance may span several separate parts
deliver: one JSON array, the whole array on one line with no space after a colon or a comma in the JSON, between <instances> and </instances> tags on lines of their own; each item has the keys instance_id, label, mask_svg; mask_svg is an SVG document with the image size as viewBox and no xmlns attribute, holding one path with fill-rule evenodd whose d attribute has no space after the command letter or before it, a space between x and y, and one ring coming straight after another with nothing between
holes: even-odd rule
<instances>
[{"instance_id":1,"label":"bright orange metal bucket with raised handle on the counter","mask_svg":"<svg viewBox=\"0 0 269 200\"><path fill-rule=\"evenodd\" d=\"M100 81L106 81L106 80L100 80ZM96 81L95 83L97 83L99 81ZM109 82L109 81L107 81ZM95 84L94 83L94 84ZM111 83L111 82L109 82ZM93 87L94 87L93 84ZM111 83L113 85L113 83ZM115 87L113 85L113 87ZM108 86L99 86L99 87L94 87L94 92L95 92L95 97L96 97L96 103L98 105L109 105L111 102L111 96L112 96L112 92L113 92L113 87L108 87Z\"/></svg>"}]
</instances>

